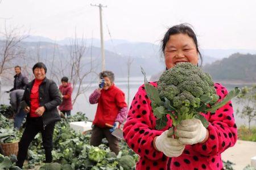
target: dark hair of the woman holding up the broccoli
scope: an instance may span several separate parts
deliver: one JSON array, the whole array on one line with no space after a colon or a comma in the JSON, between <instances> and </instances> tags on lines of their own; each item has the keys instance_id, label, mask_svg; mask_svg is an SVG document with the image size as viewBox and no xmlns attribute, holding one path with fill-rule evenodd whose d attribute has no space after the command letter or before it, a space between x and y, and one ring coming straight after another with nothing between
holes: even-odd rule
<instances>
[{"instance_id":1,"label":"dark hair of the woman holding up the broccoli","mask_svg":"<svg viewBox=\"0 0 256 170\"><path fill-rule=\"evenodd\" d=\"M199 56L200 56L200 59L201 59L201 65L202 65L203 58L202 58L202 55L201 55L201 53L199 51L199 48L198 48L196 34L195 34L195 32L193 31L193 29L191 27L192 26L189 25L189 24L179 24L179 25L174 25L173 27L169 28L168 31L166 32L166 34L164 35L163 40L162 40L162 43L161 43L162 48L161 49L162 49L162 52L164 54L164 48L166 48L166 44L169 41L170 36L176 35L178 33L183 33L183 34L188 35L189 37L191 37L191 39L195 42L196 50L199 53Z\"/></svg>"}]
</instances>

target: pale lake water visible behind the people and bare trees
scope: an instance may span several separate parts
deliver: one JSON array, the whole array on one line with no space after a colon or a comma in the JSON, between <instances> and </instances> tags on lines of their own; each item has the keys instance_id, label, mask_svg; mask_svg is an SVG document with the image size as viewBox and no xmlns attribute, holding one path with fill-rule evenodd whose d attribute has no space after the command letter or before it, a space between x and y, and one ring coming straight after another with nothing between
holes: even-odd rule
<instances>
[{"instance_id":1,"label":"pale lake water visible behind the people and bare trees","mask_svg":"<svg viewBox=\"0 0 256 170\"><path fill-rule=\"evenodd\" d=\"M136 94L138 87L141 86L142 84L143 84L143 77L130 78L130 103L133 100L133 97ZM87 85L88 84L84 84L84 86L87 86ZM127 93L128 93L127 78L115 78L115 86L117 86L123 92L125 92L126 101L127 101ZM232 85L232 84L224 84L224 86L227 87L228 90L231 90L234 87L234 85ZM73 105L72 114L75 114L76 112L80 111L80 112L85 113L86 116L89 118L89 120L94 119L96 109L97 109L97 104L90 104L89 96L90 96L90 94L92 94L92 92L97 87L98 87L98 84L96 82L91 84L90 88L88 88L88 90L84 94L81 94L77 98L75 105ZM241 85L239 87L243 87L243 85ZM10 88L11 88L11 86L2 86L1 94L0 94L1 95L1 99L0 99L1 104L9 104L9 98L10 98L9 94L4 93L4 91L10 90ZM238 126L240 126L242 124L247 125L247 121L238 117L236 114L237 108L241 108L242 105L237 104L236 100L232 100L232 101L233 101L234 116L236 118L237 125ZM255 123L255 122L253 122L253 123Z\"/></svg>"}]
</instances>

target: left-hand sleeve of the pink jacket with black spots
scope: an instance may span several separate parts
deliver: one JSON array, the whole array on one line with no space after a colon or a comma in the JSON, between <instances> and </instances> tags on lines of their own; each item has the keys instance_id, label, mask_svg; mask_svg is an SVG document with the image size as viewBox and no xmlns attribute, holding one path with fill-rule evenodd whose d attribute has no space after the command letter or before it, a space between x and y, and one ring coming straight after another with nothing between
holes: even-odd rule
<instances>
[{"instance_id":1,"label":"left-hand sleeve of the pink jacket with black spots","mask_svg":"<svg viewBox=\"0 0 256 170\"><path fill-rule=\"evenodd\" d=\"M127 121L123 127L123 136L127 145L139 156L158 160L163 157L163 153L155 150L153 139L163 131L154 130L155 117L150 103L144 87L141 86L131 103Z\"/></svg>"}]
</instances>

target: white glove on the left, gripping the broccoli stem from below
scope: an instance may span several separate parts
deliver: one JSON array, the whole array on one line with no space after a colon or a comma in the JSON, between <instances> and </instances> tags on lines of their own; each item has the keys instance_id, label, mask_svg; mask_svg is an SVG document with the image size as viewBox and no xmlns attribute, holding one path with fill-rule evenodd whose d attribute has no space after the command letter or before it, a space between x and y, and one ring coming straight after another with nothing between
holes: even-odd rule
<instances>
[{"instance_id":1,"label":"white glove on the left, gripping the broccoli stem from below","mask_svg":"<svg viewBox=\"0 0 256 170\"><path fill-rule=\"evenodd\" d=\"M180 143L178 139L168 137L168 130L164 131L159 137L156 137L155 146L168 157L180 156L185 145Z\"/></svg>"}]
</instances>

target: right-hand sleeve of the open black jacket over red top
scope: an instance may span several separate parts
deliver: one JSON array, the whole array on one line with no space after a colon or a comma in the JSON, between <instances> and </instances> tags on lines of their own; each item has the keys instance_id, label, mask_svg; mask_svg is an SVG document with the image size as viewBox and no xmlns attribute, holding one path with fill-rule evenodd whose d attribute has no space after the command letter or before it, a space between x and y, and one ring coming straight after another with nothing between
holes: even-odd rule
<instances>
[{"instance_id":1,"label":"right-hand sleeve of the open black jacket over red top","mask_svg":"<svg viewBox=\"0 0 256 170\"><path fill-rule=\"evenodd\" d=\"M50 96L50 99L52 99L52 100L43 105L47 111L51 111L52 109L54 109L58 105L60 105L62 102L61 97L60 97L60 91L59 91L56 83L53 81L49 85L49 96Z\"/></svg>"}]
</instances>

